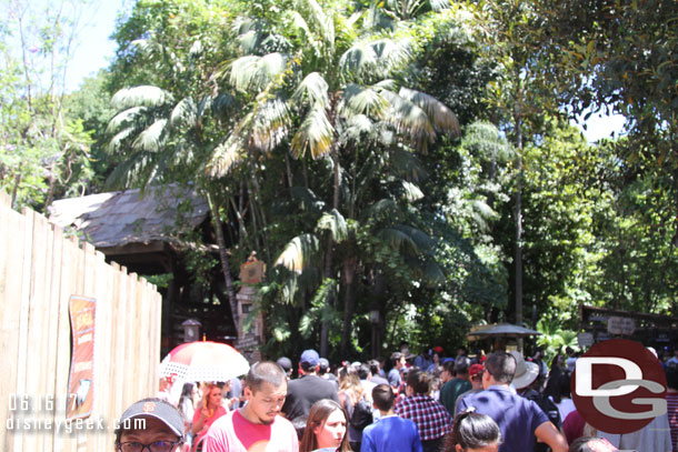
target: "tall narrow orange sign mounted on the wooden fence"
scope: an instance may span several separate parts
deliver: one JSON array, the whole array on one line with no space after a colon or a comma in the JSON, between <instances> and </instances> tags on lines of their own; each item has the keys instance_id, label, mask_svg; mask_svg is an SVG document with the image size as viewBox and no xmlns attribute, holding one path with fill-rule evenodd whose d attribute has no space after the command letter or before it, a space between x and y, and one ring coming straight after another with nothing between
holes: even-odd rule
<instances>
[{"instance_id":1,"label":"tall narrow orange sign mounted on the wooden fence","mask_svg":"<svg viewBox=\"0 0 678 452\"><path fill-rule=\"evenodd\" d=\"M68 381L67 419L87 418L94 402L94 315L97 300L71 295L69 311L73 353Z\"/></svg>"}]
</instances>

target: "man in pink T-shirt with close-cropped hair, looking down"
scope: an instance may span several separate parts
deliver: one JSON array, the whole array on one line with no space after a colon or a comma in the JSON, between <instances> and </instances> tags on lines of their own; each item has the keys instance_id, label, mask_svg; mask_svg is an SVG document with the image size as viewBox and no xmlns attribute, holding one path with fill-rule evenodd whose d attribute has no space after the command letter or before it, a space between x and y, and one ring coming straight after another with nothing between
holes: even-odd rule
<instances>
[{"instance_id":1,"label":"man in pink T-shirt with close-cropped hair, looking down","mask_svg":"<svg viewBox=\"0 0 678 452\"><path fill-rule=\"evenodd\" d=\"M280 416L287 375L275 362L253 364L245 385L245 406L218 419L205 438L205 452L297 452L292 423Z\"/></svg>"}]
</instances>

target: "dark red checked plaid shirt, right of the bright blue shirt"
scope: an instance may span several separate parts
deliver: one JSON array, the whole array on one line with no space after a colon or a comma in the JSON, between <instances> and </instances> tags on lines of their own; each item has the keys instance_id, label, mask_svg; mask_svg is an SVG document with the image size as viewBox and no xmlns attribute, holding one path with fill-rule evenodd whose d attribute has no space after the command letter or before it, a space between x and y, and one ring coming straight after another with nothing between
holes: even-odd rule
<instances>
[{"instance_id":1,"label":"dark red checked plaid shirt, right of the bright blue shirt","mask_svg":"<svg viewBox=\"0 0 678 452\"><path fill-rule=\"evenodd\" d=\"M393 412L400 418L411 419L415 422L421 441L441 438L452 425L452 418L445 406L425 394L402 399L393 408Z\"/></svg>"}]
</instances>

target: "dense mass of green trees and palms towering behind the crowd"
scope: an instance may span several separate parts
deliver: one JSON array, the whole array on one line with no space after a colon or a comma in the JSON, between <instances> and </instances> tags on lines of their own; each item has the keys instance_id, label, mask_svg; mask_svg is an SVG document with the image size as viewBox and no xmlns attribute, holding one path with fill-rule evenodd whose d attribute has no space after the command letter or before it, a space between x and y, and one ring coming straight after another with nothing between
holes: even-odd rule
<instances>
[{"instance_id":1,"label":"dense mass of green trees and palms towering behind the crowd","mask_svg":"<svg viewBox=\"0 0 678 452\"><path fill-rule=\"evenodd\" d=\"M81 106L110 119L110 182L192 181L226 225L231 260L260 252L270 354L318 346L325 324L330 358L365 356L372 310L383 352L401 339L452 350L471 324L511 318L517 244L525 304L555 350L571 342L578 303L678 309L672 154L635 135L588 145L560 119L614 98L638 131L664 121L655 138L675 142L655 90L675 81L672 32L648 4L605 23L571 8L585 17L558 24L547 9L564 7L546 0L142 0L116 31L116 111L84 96ZM635 8L651 23L634 21ZM611 42L615 20L628 42ZM616 66L639 43L657 51L637 56L642 73ZM599 98L587 94L600 83ZM11 109L26 122L23 106ZM188 262L196 273L216 263L203 252Z\"/></svg>"}]
</instances>

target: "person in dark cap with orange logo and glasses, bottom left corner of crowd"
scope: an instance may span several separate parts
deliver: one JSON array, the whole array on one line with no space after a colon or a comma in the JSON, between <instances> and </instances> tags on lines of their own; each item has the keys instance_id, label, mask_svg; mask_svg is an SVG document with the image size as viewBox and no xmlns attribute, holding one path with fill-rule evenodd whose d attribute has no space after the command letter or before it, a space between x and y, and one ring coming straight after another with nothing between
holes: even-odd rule
<instances>
[{"instance_id":1,"label":"person in dark cap with orange logo and glasses, bottom left corner of crowd","mask_svg":"<svg viewBox=\"0 0 678 452\"><path fill-rule=\"evenodd\" d=\"M161 399L136 402L124 410L118 425L118 452L175 452L183 444L183 416Z\"/></svg>"}]
</instances>

